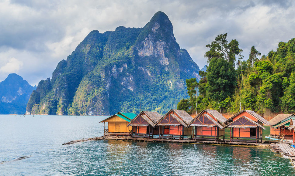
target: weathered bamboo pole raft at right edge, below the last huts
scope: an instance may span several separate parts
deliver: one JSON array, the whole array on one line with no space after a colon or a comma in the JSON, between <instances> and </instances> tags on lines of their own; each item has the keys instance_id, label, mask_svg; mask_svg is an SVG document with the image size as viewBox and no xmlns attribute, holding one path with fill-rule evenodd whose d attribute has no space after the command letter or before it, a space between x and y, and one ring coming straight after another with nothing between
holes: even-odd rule
<instances>
[{"instance_id":1,"label":"weathered bamboo pole raft at right edge, below the last huts","mask_svg":"<svg viewBox=\"0 0 295 176\"><path fill-rule=\"evenodd\" d=\"M292 147L290 144L293 144L293 143L282 142L278 144L271 144L270 147L272 151L276 153L280 153L283 156L290 158L292 165L295 167L295 148Z\"/></svg>"}]
</instances>

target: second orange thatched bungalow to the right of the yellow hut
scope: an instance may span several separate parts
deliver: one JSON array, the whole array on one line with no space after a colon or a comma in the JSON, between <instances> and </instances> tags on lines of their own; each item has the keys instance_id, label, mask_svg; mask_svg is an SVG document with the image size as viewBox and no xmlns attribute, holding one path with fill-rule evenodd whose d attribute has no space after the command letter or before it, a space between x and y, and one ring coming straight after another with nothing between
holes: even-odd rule
<instances>
[{"instance_id":1,"label":"second orange thatched bungalow to the right of the yellow hut","mask_svg":"<svg viewBox=\"0 0 295 176\"><path fill-rule=\"evenodd\" d=\"M171 138L179 140L184 136L192 137L193 127L188 127L193 120L184 110L169 110L156 124L159 126L159 138Z\"/></svg>"}]
</instances>

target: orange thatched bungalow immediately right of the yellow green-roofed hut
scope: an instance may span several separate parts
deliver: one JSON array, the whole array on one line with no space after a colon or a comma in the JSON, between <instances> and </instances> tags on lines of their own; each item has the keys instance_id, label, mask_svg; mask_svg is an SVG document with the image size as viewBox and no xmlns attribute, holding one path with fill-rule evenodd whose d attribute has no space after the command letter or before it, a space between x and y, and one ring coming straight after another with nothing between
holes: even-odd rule
<instances>
[{"instance_id":1,"label":"orange thatched bungalow immediately right of the yellow green-roofed hut","mask_svg":"<svg viewBox=\"0 0 295 176\"><path fill-rule=\"evenodd\" d=\"M128 127L132 127L130 134L132 137L153 138L154 134L159 134L159 127L155 127L155 125L161 117L161 114L157 112L141 111L141 113L127 125Z\"/></svg>"}]
</instances>

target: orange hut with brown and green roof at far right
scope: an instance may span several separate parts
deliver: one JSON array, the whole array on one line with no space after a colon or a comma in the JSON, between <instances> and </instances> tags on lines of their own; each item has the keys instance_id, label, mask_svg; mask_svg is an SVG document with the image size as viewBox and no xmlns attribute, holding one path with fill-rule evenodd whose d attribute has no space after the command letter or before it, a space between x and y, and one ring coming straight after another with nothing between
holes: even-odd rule
<instances>
[{"instance_id":1,"label":"orange hut with brown and green roof at far right","mask_svg":"<svg viewBox=\"0 0 295 176\"><path fill-rule=\"evenodd\" d=\"M269 123L271 124L270 135L272 137L293 139L293 133L286 128L289 127L291 118L294 117L294 114L278 114L276 117L269 120Z\"/></svg>"}]
</instances>

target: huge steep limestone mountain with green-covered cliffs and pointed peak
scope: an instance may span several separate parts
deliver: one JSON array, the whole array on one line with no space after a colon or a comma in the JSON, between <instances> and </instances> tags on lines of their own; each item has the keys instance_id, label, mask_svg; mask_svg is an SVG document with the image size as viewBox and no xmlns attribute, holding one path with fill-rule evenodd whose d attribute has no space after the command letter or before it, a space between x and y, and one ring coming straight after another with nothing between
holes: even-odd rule
<instances>
[{"instance_id":1,"label":"huge steep limestone mountain with green-covered cliffs and pointed peak","mask_svg":"<svg viewBox=\"0 0 295 176\"><path fill-rule=\"evenodd\" d=\"M109 115L176 107L185 80L199 66L177 44L167 15L157 12L144 28L92 31L52 79L40 81L27 113Z\"/></svg>"}]
</instances>

